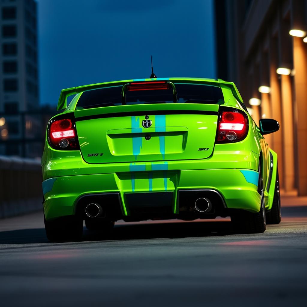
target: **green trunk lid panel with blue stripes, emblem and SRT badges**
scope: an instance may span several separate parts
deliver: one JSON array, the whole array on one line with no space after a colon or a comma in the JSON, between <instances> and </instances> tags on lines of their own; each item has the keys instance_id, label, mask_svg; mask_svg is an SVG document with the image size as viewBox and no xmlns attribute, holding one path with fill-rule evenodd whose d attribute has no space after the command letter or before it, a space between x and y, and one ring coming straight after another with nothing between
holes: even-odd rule
<instances>
[{"instance_id":1,"label":"green trunk lid panel with blue stripes, emblem and SRT badges","mask_svg":"<svg viewBox=\"0 0 307 307\"><path fill-rule=\"evenodd\" d=\"M181 106L174 109L178 107ZM142 127L145 116L76 122L84 160L88 163L189 160L205 159L212 154L217 115L150 115L149 119L153 122L149 128ZM147 134L150 140L145 139ZM198 151L200 147L208 150ZM103 155L88 157L90 153Z\"/></svg>"}]
</instances>

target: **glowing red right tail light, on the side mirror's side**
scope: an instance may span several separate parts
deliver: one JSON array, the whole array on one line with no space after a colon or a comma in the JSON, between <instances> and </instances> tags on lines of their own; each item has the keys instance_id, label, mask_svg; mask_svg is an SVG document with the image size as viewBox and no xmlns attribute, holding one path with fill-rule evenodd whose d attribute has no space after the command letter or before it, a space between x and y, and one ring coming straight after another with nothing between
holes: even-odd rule
<instances>
[{"instance_id":1,"label":"glowing red right tail light, on the side mirror's side","mask_svg":"<svg viewBox=\"0 0 307 307\"><path fill-rule=\"evenodd\" d=\"M219 115L216 143L241 141L247 136L247 132L248 118L245 113L231 108L222 109Z\"/></svg>"}]
</instances>

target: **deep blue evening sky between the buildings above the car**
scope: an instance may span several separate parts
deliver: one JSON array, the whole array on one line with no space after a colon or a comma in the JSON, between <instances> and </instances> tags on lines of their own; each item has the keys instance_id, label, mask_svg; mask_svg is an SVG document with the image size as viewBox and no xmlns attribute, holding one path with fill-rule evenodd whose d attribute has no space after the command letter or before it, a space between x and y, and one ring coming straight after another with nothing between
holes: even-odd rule
<instances>
[{"instance_id":1,"label":"deep blue evening sky between the buildings above the car","mask_svg":"<svg viewBox=\"0 0 307 307\"><path fill-rule=\"evenodd\" d=\"M215 78L212 0L37 0L40 100L60 90L157 77Z\"/></svg>"}]
</instances>

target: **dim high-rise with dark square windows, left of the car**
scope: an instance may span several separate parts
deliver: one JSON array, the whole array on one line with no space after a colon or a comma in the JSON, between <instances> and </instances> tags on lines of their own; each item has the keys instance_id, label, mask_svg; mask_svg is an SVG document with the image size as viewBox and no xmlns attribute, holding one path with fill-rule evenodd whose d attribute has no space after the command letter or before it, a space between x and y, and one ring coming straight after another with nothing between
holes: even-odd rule
<instances>
[{"instance_id":1,"label":"dim high-rise with dark square windows, left of the car","mask_svg":"<svg viewBox=\"0 0 307 307\"><path fill-rule=\"evenodd\" d=\"M40 129L24 115L39 104L36 1L0 0L0 29L0 154L39 156L39 145L21 141Z\"/></svg>"}]
</instances>

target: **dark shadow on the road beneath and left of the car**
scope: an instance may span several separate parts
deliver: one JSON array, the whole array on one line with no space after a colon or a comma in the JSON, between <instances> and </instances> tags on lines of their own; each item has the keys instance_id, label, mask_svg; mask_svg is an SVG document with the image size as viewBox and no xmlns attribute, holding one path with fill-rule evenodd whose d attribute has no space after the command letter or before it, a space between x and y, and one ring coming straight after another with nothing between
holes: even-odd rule
<instances>
[{"instance_id":1,"label":"dark shadow on the road beneath and left of the car","mask_svg":"<svg viewBox=\"0 0 307 307\"><path fill-rule=\"evenodd\" d=\"M232 234L229 221L159 222L115 225L109 234L97 235L83 229L81 241L187 238ZM49 243L45 229L20 229L0 232L0 244Z\"/></svg>"}]
</instances>

